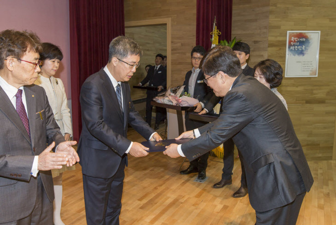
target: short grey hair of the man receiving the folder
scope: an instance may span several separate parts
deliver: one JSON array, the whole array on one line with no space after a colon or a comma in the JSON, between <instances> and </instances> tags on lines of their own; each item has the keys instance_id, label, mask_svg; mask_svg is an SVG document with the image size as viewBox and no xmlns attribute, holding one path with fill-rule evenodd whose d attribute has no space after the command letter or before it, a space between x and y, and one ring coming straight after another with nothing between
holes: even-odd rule
<instances>
[{"instance_id":1,"label":"short grey hair of the man receiving the folder","mask_svg":"<svg viewBox=\"0 0 336 225\"><path fill-rule=\"evenodd\" d=\"M108 48L108 62L111 62L113 57L123 59L131 55L143 55L143 50L132 38L118 36L111 41Z\"/></svg>"}]
</instances>

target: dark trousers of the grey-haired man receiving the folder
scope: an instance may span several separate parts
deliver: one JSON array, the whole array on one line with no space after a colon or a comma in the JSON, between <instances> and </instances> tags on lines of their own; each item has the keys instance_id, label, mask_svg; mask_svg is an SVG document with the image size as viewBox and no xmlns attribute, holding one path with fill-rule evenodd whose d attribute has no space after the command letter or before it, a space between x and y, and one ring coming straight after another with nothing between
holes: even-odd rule
<instances>
[{"instance_id":1,"label":"dark trousers of the grey-haired man receiving the folder","mask_svg":"<svg viewBox=\"0 0 336 225\"><path fill-rule=\"evenodd\" d=\"M85 212L88 225L119 225L126 157L110 178L83 174Z\"/></svg>"}]
</instances>

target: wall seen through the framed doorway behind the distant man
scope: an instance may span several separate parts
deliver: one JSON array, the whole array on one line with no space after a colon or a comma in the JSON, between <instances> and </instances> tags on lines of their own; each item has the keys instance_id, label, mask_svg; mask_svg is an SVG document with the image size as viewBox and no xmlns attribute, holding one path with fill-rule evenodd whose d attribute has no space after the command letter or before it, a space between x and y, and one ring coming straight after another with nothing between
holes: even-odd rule
<instances>
[{"instance_id":1,"label":"wall seen through the framed doorway behind the distant man","mask_svg":"<svg viewBox=\"0 0 336 225\"><path fill-rule=\"evenodd\" d=\"M148 64L155 65L155 56L157 54L167 55L167 26L143 26L126 27L125 36L133 38L143 49L143 56L140 58L140 66L133 74L129 83L131 86L132 99L141 99L146 97L146 91L142 89L133 89L133 85L138 85L146 76L144 67Z\"/></svg>"}]
</instances>

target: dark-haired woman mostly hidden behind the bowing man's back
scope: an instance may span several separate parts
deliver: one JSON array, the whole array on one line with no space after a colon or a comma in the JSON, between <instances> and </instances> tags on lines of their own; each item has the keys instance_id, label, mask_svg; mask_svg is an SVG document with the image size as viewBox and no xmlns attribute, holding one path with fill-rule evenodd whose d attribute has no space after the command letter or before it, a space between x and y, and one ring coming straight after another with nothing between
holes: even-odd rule
<instances>
[{"instance_id":1,"label":"dark-haired woman mostly hidden behind the bowing man's back","mask_svg":"<svg viewBox=\"0 0 336 225\"><path fill-rule=\"evenodd\" d=\"M271 91L279 97L288 110L286 100L277 89L283 80L283 68L281 65L273 59L265 59L254 66L254 71L254 78L271 89Z\"/></svg>"}]
</instances>

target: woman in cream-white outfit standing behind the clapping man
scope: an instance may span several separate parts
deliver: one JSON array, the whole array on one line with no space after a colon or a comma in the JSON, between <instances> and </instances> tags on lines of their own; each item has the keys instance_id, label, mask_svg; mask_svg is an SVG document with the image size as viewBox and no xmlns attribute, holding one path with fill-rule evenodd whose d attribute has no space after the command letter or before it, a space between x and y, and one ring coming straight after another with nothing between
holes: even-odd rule
<instances>
[{"instance_id":1,"label":"woman in cream-white outfit standing behind the clapping man","mask_svg":"<svg viewBox=\"0 0 336 225\"><path fill-rule=\"evenodd\" d=\"M70 140L72 136L72 125L70 110L67 105L67 98L64 90L64 85L61 79L53 77L59 68L59 62L63 58L61 50L51 44L42 44L43 52L40 54L41 72L36 85L43 87L46 90L48 101L54 118L62 132L66 141ZM61 220L60 212L62 206L62 174L65 170L74 170L75 166L65 167L62 169L52 169L52 180L55 192L54 209L53 209L53 223L54 225L64 225Z\"/></svg>"}]
</instances>

